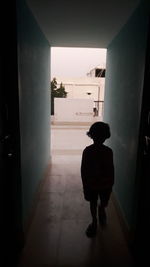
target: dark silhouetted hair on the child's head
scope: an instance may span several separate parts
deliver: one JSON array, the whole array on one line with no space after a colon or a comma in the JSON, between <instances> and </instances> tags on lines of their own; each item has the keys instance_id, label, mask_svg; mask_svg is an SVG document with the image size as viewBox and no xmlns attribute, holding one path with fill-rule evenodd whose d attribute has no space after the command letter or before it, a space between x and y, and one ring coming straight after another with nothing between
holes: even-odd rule
<instances>
[{"instance_id":1,"label":"dark silhouetted hair on the child's head","mask_svg":"<svg viewBox=\"0 0 150 267\"><path fill-rule=\"evenodd\" d=\"M108 139L111 135L109 125L102 121L95 122L91 125L87 135L92 139Z\"/></svg>"}]
</instances>

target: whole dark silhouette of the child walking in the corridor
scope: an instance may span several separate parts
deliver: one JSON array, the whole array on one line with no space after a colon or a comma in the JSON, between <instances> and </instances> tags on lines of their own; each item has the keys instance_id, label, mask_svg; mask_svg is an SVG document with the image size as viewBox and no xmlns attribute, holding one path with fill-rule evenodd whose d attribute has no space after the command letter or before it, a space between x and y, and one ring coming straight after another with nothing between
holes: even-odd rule
<instances>
[{"instance_id":1,"label":"whole dark silhouette of the child walking in the corridor","mask_svg":"<svg viewBox=\"0 0 150 267\"><path fill-rule=\"evenodd\" d=\"M95 122L87 132L93 139L93 144L83 150L81 161L81 178L83 183L84 197L90 202L92 223L89 224L86 234L92 237L97 230L97 201L99 222L106 224L105 208L114 184L113 152L103 143L110 137L110 128L107 123Z\"/></svg>"}]
</instances>

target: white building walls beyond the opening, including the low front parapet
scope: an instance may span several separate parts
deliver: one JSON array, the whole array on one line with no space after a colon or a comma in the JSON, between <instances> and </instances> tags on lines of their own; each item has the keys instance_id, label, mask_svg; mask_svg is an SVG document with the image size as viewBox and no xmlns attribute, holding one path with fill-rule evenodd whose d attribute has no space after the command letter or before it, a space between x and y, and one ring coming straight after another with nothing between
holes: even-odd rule
<instances>
[{"instance_id":1,"label":"white building walls beyond the opening, including the low front parapet","mask_svg":"<svg viewBox=\"0 0 150 267\"><path fill-rule=\"evenodd\" d=\"M54 117L57 122L92 122L94 114L93 108L96 107L98 118L103 117L103 103L94 101L104 101L105 78L82 77L64 78L56 77L57 86L62 83L67 98L54 99ZM91 93L90 95L88 93ZM99 105L99 107L98 107Z\"/></svg>"}]
</instances>

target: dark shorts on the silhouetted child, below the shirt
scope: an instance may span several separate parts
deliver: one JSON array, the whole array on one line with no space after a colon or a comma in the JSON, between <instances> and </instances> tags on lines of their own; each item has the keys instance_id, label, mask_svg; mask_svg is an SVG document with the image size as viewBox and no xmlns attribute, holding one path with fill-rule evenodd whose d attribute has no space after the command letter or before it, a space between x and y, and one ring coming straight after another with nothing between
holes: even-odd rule
<instances>
[{"instance_id":1,"label":"dark shorts on the silhouetted child, below the shirt","mask_svg":"<svg viewBox=\"0 0 150 267\"><path fill-rule=\"evenodd\" d=\"M104 206L107 206L108 201L110 199L110 195L112 192L112 188L107 188L103 190L84 190L84 198L87 201L97 201L98 198L100 198L101 203L103 203Z\"/></svg>"}]
</instances>

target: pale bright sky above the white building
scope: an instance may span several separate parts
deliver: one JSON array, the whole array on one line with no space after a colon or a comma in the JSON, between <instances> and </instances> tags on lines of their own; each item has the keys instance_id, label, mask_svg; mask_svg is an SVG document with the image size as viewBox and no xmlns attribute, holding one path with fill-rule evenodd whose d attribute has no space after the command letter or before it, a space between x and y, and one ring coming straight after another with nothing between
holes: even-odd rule
<instances>
[{"instance_id":1,"label":"pale bright sky above the white building","mask_svg":"<svg viewBox=\"0 0 150 267\"><path fill-rule=\"evenodd\" d=\"M99 48L51 48L51 78L84 77L98 65L106 65L106 49Z\"/></svg>"}]
</instances>

